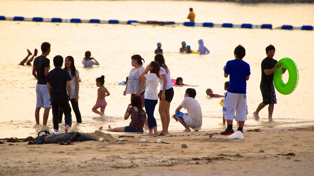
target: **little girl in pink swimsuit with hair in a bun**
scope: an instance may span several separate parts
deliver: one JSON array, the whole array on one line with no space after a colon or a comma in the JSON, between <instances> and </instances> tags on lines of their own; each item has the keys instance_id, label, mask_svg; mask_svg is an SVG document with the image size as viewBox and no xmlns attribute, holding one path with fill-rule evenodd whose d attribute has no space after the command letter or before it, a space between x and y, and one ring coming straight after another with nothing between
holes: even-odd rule
<instances>
[{"instance_id":1,"label":"little girl in pink swimsuit with hair in a bun","mask_svg":"<svg viewBox=\"0 0 314 176\"><path fill-rule=\"evenodd\" d=\"M104 86L104 84L105 84L104 75L96 79L96 86L99 88L97 90L97 101L94 107L92 108L92 111L95 112L96 114L99 114L100 116L104 116L105 108L107 106L105 97L110 95L109 91ZM97 110L98 108L100 108L100 111Z\"/></svg>"}]
</instances>

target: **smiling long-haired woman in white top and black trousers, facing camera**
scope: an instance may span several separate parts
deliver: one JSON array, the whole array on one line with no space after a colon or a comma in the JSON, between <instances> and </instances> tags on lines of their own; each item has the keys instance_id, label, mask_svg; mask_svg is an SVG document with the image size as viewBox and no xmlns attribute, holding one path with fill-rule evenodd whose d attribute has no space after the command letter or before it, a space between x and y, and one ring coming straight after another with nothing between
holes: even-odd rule
<instances>
[{"instance_id":1,"label":"smiling long-haired woman in white top and black trousers, facing camera","mask_svg":"<svg viewBox=\"0 0 314 176\"><path fill-rule=\"evenodd\" d=\"M81 112L79 111L79 108L78 108L79 72L78 70L76 70L74 66L74 59L72 56L68 56L65 58L64 70L67 70L72 78L72 80L70 81L71 82L71 94L72 94L70 98L71 98L72 109L76 116L76 122L82 123ZM63 114L63 111L60 108L59 109L59 123L61 123L62 121L62 114Z\"/></svg>"}]
</instances>

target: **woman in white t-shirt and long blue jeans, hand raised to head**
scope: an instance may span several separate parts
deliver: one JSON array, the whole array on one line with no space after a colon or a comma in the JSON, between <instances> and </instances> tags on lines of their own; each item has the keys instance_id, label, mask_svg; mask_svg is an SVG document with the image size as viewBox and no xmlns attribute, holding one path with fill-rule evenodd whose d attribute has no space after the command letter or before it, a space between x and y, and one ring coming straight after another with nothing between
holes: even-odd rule
<instances>
[{"instance_id":1,"label":"woman in white t-shirt and long blue jeans, hand raised to head","mask_svg":"<svg viewBox=\"0 0 314 176\"><path fill-rule=\"evenodd\" d=\"M145 110L147 114L149 132L146 135L158 135L157 122L154 117L154 110L158 103L158 82L159 82L159 64L152 61L146 66L145 70L139 74L138 79L146 80L145 90ZM150 73L148 73L150 71ZM154 133L153 133L154 130Z\"/></svg>"}]
</instances>

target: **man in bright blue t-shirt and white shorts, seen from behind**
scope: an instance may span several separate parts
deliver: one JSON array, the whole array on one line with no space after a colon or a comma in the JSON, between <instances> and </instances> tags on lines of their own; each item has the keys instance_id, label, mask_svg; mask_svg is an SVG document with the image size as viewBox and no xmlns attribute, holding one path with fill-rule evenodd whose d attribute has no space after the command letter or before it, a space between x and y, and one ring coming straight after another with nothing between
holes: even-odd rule
<instances>
[{"instance_id":1,"label":"man in bright blue t-shirt and white shorts, seen from behind","mask_svg":"<svg viewBox=\"0 0 314 176\"><path fill-rule=\"evenodd\" d=\"M250 78L250 65L242 59L245 56L245 48L241 45L237 46L234 51L235 60L229 60L224 67L224 76L230 75L230 83L225 93L222 112L227 121L227 129L220 132L221 135L230 135L234 131L232 122L236 112L236 121L239 122L238 131L243 133L244 122L247 120L246 105L246 81Z\"/></svg>"}]
</instances>

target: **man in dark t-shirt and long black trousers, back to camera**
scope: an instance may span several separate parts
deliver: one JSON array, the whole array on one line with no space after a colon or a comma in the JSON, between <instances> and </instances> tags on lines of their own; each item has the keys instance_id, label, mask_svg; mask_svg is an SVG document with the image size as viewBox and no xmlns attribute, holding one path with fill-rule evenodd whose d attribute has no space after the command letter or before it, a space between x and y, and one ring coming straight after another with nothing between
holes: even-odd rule
<instances>
[{"instance_id":1,"label":"man in dark t-shirt and long black trousers, back to camera","mask_svg":"<svg viewBox=\"0 0 314 176\"><path fill-rule=\"evenodd\" d=\"M55 132L59 131L59 108L64 112L65 133L68 133L72 125L71 107L71 76L67 70L62 69L63 58L57 55L53 58L55 68L47 75L47 89L52 106L52 122ZM67 88L69 95L67 94Z\"/></svg>"}]
</instances>

